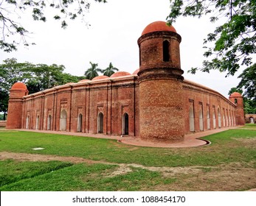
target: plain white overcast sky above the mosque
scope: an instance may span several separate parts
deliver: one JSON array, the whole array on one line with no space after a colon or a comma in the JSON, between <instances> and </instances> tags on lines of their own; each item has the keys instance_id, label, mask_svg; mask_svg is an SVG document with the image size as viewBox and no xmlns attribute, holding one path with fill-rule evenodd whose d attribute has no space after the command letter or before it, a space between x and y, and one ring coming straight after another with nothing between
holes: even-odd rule
<instances>
[{"instance_id":1,"label":"plain white overcast sky above the mosque","mask_svg":"<svg viewBox=\"0 0 256 206\"><path fill-rule=\"evenodd\" d=\"M28 41L35 46L28 49L20 46L18 51L6 53L0 50L0 63L15 57L18 62L65 65L66 73L82 76L90 67L89 61L100 68L111 62L120 69L133 73L139 68L139 47L137 40L143 29L153 21L165 21L170 13L169 0L108 0L107 4L91 0L91 9L86 14L86 27L77 18L69 22L67 29L60 28L60 22L48 17L46 23L35 22L26 13L22 25L33 32ZM26 16L27 15L27 16ZM179 18L173 26L181 35L181 68L184 78L217 90L228 97L230 88L236 87L240 79L227 77L218 71L210 74L198 72L187 74L191 67L200 66L204 60L203 40L215 26L208 18Z\"/></svg>"}]
</instances>

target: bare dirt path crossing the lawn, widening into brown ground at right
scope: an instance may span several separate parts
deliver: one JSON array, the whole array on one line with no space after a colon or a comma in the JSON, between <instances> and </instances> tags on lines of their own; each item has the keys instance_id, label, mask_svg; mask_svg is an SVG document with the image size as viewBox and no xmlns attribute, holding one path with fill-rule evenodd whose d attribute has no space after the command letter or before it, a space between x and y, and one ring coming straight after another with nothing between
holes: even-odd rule
<instances>
[{"instance_id":1,"label":"bare dirt path crossing the lawn, widening into brown ground at right","mask_svg":"<svg viewBox=\"0 0 256 206\"><path fill-rule=\"evenodd\" d=\"M251 139L248 139L249 141ZM49 154L26 154L14 152L0 152L0 160L14 159L19 161L51 161L58 160L71 163L103 163L116 165L113 171L105 177L128 174L133 168L144 168L158 171L162 178L175 178L176 181L167 184L154 185L148 191L238 191L256 188L255 162L228 163L214 167L147 167L139 164L108 163L104 161L87 160L83 157L60 157ZM150 180L149 180L150 181Z\"/></svg>"}]
</instances>

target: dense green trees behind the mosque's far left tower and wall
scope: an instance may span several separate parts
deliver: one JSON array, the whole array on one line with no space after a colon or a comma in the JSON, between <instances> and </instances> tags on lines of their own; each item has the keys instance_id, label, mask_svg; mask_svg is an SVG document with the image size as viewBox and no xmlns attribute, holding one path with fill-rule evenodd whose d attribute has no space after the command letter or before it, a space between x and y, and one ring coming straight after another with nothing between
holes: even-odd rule
<instances>
[{"instance_id":1,"label":"dense green trees behind the mosque's far left tower and wall","mask_svg":"<svg viewBox=\"0 0 256 206\"><path fill-rule=\"evenodd\" d=\"M0 112L7 113L9 90L15 82L24 82L30 93L36 93L68 82L78 82L83 77L64 73L63 65L18 63L7 59L0 65Z\"/></svg>"}]
</instances>

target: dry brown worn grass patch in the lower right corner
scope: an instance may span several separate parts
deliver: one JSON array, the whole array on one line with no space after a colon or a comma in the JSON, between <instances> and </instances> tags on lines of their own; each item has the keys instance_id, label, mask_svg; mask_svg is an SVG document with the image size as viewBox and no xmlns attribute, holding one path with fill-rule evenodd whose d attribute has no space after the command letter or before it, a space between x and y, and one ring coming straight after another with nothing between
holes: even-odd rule
<instances>
[{"instance_id":1,"label":"dry brown worn grass patch in the lower right corner","mask_svg":"<svg viewBox=\"0 0 256 206\"><path fill-rule=\"evenodd\" d=\"M256 188L256 168L253 163L229 163L202 168L197 174L179 174L177 181L158 185L156 191L246 191Z\"/></svg>"}]
</instances>

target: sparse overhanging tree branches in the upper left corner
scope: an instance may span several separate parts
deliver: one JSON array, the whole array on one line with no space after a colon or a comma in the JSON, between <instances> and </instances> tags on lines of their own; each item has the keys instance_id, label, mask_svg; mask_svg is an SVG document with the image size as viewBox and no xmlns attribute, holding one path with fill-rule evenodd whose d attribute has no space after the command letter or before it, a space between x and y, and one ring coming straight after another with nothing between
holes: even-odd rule
<instances>
[{"instance_id":1,"label":"sparse overhanging tree branches in the upper left corner","mask_svg":"<svg viewBox=\"0 0 256 206\"><path fill-rule=\"evenodd\" d=\"M106 0L94 0L105 3ZM52 16L55 20L60 20L63 29L68 26L67 19L74 20L78 16L84 21L86 12L90 8L89 1L83 0L5 0L0 2L0 49L10 52L17 50L17 46L21 41L24 46L29 46L26 36L29 33L21 24L21 17L25 11L32 13L35 21L46 21L46 10L54 9L56 13ZM16 37L19 37L17 39ZM13 38L15 40L13 40ZM33 44L33 43L32 43Z\"/></svg>"}]
</instances>

